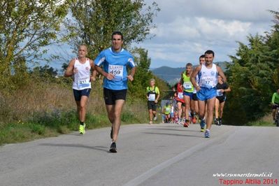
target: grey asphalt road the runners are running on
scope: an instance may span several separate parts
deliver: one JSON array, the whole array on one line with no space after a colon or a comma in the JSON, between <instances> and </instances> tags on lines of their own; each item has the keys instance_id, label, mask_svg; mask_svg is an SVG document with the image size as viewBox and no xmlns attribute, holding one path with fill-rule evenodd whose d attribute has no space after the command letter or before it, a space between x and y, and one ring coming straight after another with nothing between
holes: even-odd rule
<instances>
[{"instance_id":1,"label":"grey asphalt road the runners are running on","mask_svg":"<svg viewBox=\"0 0 279 186\"><path fill-rule=\"evenodd\" d=\"M117 153L109 134L3 145L0 185L279 185L279 127L214 125L204 138L199 124L131 124Z\"/></svg>"}]
</instances>

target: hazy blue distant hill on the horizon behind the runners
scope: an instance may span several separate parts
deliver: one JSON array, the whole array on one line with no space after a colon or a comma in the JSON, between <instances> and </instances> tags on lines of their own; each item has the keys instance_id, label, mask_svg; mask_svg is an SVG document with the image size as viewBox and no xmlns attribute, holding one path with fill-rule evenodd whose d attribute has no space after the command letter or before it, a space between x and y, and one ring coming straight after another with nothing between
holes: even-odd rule
<instances>
[{"instance_id":1,"label":"hazy blue distant hill on the horizon behind the runners","mask_svg":"<svg viewBox=\"0 0 279 186\"><path fill-rule=\"evenodd\" d=\"M215 64L219 65L223 71L226 71L226 62L216 62ZM185 71L185 67L171 68L169 66L161 66L151 71L155 76L169 83L169 85L175 85L180 80L180 74Z\"/></svg>"}]
</instances>

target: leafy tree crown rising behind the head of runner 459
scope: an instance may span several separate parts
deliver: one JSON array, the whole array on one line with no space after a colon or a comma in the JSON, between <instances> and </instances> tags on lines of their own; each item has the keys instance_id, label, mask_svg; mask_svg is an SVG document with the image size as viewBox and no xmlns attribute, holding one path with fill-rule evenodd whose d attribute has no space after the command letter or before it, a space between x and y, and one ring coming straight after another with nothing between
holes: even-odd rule
<instances>
[{"instance_id":1,"label":"leafy tree crown rising behind the head of runner 459","mask_svg":"<svg viewBox=\"0 0 279 186\"><path fill-rule=\"evenodd\" d=\"M92 59L111 45L113 31L121 31L124 45L151 38L150 29L155 27L152 19L159 8L157 3L145 7L143 0L78 0L71 4L74 18L66 22L70 45L77 48L85 43Z\"/></svg>"}]
</instances>

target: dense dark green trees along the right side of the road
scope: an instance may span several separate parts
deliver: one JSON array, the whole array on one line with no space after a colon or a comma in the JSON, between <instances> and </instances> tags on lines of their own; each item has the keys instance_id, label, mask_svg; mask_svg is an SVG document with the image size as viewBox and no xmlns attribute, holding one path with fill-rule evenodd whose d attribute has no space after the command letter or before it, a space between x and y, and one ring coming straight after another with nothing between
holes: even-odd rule
<instances>
[{"instance_id":1,"label":"dense dark green trees along the right side of the road","mask_svg":"<svg viewBox=\"0 0 279 186\"><path fill-rule=\"evenodd\" d=\"M230 56L227 77L231 87L224 117L229 124L245 124L270 112L271 96L279 87L279 13L266 36L248 36Z\"/></svg>"}]
</instances>

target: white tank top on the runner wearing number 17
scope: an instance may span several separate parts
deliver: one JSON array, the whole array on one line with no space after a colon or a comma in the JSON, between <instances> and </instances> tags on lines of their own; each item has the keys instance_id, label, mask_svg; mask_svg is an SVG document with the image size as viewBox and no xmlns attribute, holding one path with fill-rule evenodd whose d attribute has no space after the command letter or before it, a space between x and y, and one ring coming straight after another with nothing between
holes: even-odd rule
<instances>
[{"instance_id":1,"label":"white tank top on the runner wearing number 17","mask_svg":"<svg viewBox=\"0 0 279 186\"><path fill-rule=\"evenodd\" d=\"M208 89L216 87L217 76L218 72L215 64L213 64L211 69L207 69L203 64L201 71L199 71L199 87L206 87Z\"/></svg>"}]
</instances>

